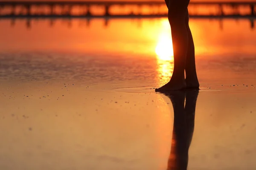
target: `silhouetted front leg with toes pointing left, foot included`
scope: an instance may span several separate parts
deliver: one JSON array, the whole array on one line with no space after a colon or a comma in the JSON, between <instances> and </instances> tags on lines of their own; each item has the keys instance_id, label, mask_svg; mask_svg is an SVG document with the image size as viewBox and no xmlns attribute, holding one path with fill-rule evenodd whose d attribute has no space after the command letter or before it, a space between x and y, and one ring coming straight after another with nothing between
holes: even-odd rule
<instances>
[{"instance_id":1,"label":"silhouetted front leg with toes pointing left, foot included","mask_svg":"<svg viewBox=\"0 0 256 170\"><path fill-rule=\"evenodd\" d=\"M169 0L168 20L172 29L174 70L171 80L156 91L173 91L186 88L184 70L189 38L186 27L186 13L189 0Z\"/></svg>"}]
</instances>

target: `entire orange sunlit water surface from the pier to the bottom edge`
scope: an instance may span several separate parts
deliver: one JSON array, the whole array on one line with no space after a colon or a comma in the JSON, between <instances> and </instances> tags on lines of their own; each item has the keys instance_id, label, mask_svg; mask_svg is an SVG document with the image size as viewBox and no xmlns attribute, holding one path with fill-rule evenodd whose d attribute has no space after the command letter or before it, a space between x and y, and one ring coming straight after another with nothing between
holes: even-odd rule
<instances>
[{"instance_id":1,"label":"entire orange sunlit water surface from the pier to the bottom edge","mask_svg":"<svg viewBox=\"0 0 256 170\"><path fill-rule=\"evenodd\" d=\"M11 23L0 21L0 169L166 170L183 113L153 89L172 75L166 19ZM256 29L190 26L202 90L188 169L253 170Z\"/></svg>"}]
</instances>

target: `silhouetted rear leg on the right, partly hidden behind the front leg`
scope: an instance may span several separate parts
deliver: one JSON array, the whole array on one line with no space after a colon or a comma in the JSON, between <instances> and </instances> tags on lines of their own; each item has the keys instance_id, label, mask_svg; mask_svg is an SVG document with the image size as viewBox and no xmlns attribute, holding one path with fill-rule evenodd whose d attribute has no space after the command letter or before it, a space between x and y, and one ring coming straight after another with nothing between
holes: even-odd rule
<instances>
[{"instance_id":1,"label":"silhouetted rear leg on the right, partly hidden behind the front leg","mask_svg":"<svg viewBox=\"0 0 256 170\"><path fill-rule=\"evenodd\" d=\"M199 88L199 82L195 68L195 46L192 33L189 28L189 11L186 11L186 28L189 38L189 46L186 55L186 86L187 88Z\"/></svg>"}]
</instances>

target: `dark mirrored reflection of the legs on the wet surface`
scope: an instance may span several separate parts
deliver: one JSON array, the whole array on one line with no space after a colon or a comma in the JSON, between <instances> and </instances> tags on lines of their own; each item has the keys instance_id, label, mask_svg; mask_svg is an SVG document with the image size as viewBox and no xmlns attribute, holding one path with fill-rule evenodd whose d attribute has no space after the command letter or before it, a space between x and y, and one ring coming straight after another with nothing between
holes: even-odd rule
<instances>
[{"instance_id":1,"label":"dark mirrored reflection of the legs on the wet surface","mask_svg":"<svg viewBox=\"0 0 256 170\"><path fill-rule=\"evenodd\" d=\"M172 101L174 125L172 147L168 160L168 170L186 170L189 159L189 146L195 125L195 106L198 90L175 91L165 94ZM184 101L186 95L186 105Z\"/></svg>"}]
</instances>

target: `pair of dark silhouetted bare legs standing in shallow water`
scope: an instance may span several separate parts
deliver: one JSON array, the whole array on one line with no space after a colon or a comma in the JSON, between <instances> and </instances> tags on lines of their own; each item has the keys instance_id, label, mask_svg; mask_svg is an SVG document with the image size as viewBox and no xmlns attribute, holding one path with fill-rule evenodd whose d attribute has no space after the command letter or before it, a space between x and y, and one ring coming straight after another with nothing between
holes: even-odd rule
<instances>
[{"instance_id":1,"label":"pair of dark silhouetted bare legs standing in shallow water","mask_svg":"<svg viewBox=\"0 0 256 170\"><path fill-rule=\"evenodd\" d=\"M174 71L171 80L163 87L156 89L156 91L199 88L195 69L195 47L189 28L187 8L189 0L165 0L165 2L169 9L168 19L172 28ZM186 79L184 70L186 71Z\"/></svg>"}]
</instances>

